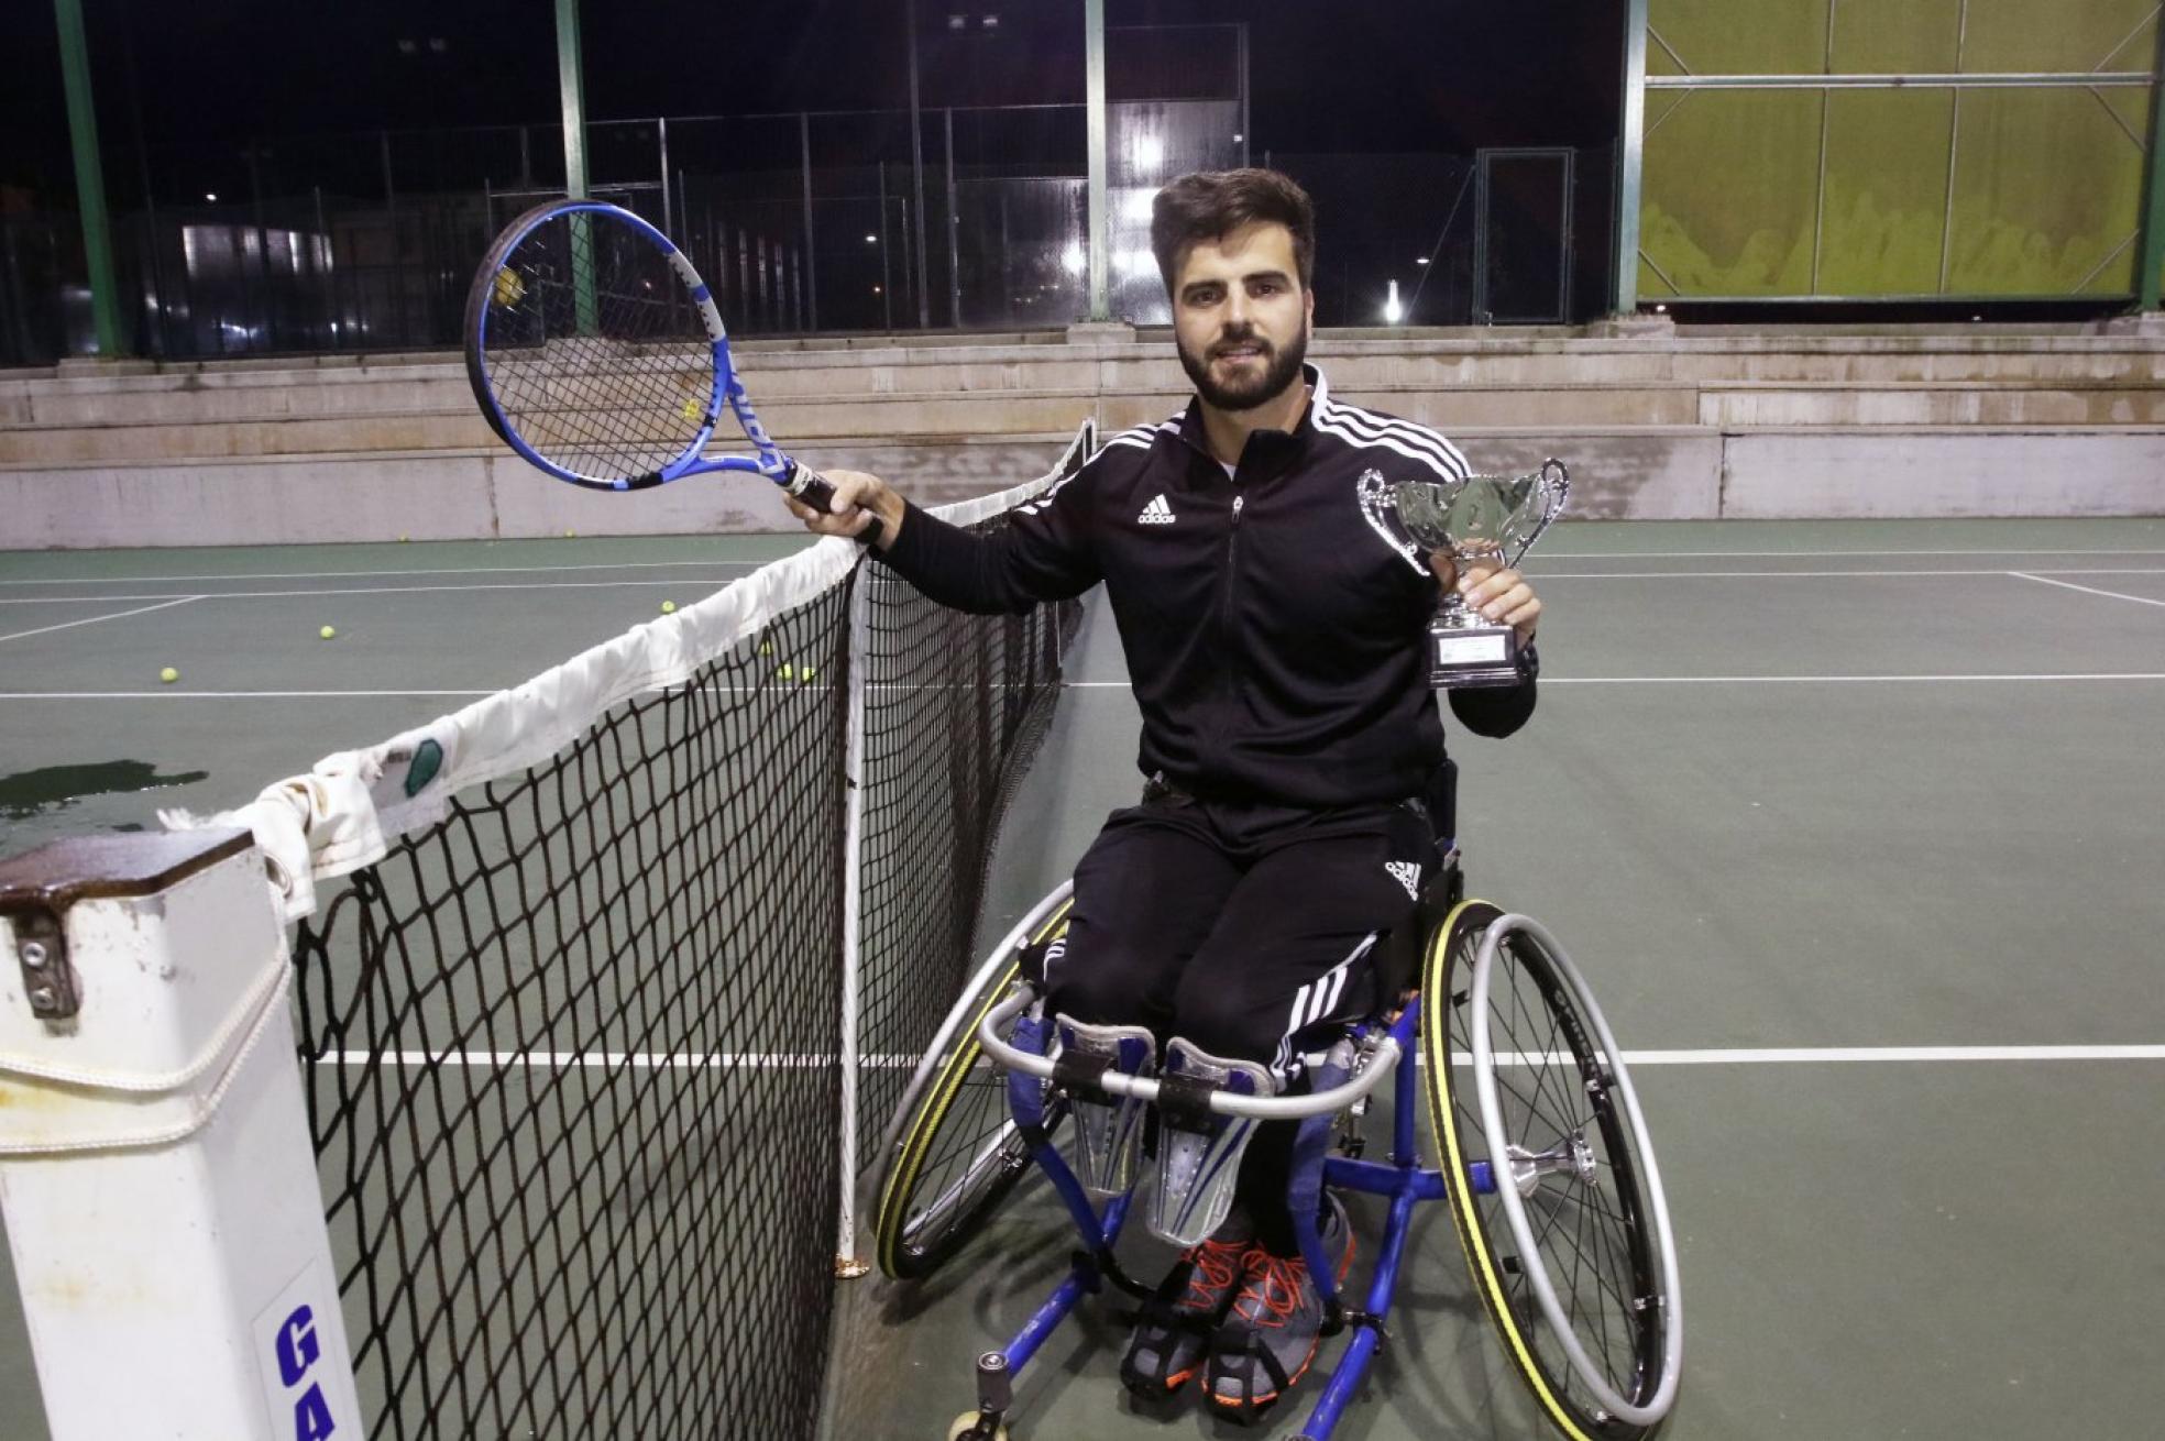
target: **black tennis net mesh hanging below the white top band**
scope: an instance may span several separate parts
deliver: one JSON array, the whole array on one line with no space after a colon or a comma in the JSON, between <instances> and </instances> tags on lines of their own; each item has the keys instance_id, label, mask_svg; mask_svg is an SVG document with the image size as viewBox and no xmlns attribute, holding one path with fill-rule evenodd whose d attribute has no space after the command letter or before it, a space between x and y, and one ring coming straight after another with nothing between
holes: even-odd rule
<instances>
[{"instance_id":1,"label":"black tennis net mesh hanging below the white top band","mask_svg":"<svg viewBox=\"0 0 2165 1441\"><path fill-rule=\"evenodd\" d=\"M301 1060L370 1437L814 1435L849 677L879 1056L968 965L1076 621L953 614L860 565L323 887Z\"/></svg>"}]
</instances>

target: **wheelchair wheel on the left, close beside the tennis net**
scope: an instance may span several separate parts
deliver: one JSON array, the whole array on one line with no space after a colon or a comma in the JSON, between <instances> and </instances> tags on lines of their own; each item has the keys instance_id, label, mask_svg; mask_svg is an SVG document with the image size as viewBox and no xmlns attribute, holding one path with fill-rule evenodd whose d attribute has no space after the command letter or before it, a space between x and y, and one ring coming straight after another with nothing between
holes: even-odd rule
<instances>
[{"instance_id":1,"label":"wheelchair wheel on the left, close beside the tennis net","mask_svg":"<svg viewBox=\"0 0 2165 1441\"><path fill-rule=\"evenodd\" d=\"M937 1270L1031 1173L1007 1106L1007 1073L985 1058L976 1023L1065 933L1067 907L1061 900L1020 952L996 952L979 969L903 1095L872 1222L879 1270L896 1281ZM1048 1106L1046 1129L1063 1116Z\"/></svg>"}]
</instances>

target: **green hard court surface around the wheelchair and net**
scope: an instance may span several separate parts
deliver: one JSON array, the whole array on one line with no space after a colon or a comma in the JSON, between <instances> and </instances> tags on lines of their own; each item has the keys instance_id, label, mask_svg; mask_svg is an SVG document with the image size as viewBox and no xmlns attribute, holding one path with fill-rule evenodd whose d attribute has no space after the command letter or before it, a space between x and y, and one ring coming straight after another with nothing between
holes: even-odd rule
<instances>
[{"instance_id":1,"label":"green hard court surface around the wheelchair and net","mask_svg":"<svg viewBox=\"0 0 2165 1441\"><path fill-rule=\"evenodd\" d=\"M245 803L799 543L0 556L0 850ZM2156 1435L2165 521L1565 524L1526 569L1541 708L1453 731L1459 835L1635 1056L1684 1268L1663 1435ZM987 937L1139 785L1095 601L1067 679ZM1338 1437L1535 1437L1431 1209ZM944 1435L1070 1248L1039 1188L922 1287L838 1283L827 1432ZM37 1441L13 1290L0 1437ZM1137 1409L1121 1309L1039 1352L1018 1437L1299 1430Z\"/></svg>"}]
</instances>

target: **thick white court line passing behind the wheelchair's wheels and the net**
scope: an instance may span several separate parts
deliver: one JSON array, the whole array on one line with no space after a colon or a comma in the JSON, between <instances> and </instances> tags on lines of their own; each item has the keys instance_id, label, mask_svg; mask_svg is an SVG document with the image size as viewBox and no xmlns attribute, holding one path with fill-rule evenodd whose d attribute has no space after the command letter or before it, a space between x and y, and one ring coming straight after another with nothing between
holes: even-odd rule
<instances>
[{"instance_id":1,"label":"thick white court line passing behind the wheelchair's wheels and the net","mask_svg":"<svg viewBox=\"0 0 2165 1441\"><path fill-rule=\"evenodd\" d=\"M864 1056L879 1071L914 1069L920 1056ZM1453 1052L1455 1065L1470 1065L1468 1052ZM1576 1065L1563 1052L1496 1052L1507 1067ZM1760 1049L1624 1052L1628 1067L1784 1067L1855 1062L1953 1062L1953 1060L2165 1060L2165 1045L1814 1045ZM320 1067L498 1067L498 1069L634 1069L634 1071L810 1071L840 1065L840 1056L818 1052L327 1052Z\"/></svg>"}]
</instances>

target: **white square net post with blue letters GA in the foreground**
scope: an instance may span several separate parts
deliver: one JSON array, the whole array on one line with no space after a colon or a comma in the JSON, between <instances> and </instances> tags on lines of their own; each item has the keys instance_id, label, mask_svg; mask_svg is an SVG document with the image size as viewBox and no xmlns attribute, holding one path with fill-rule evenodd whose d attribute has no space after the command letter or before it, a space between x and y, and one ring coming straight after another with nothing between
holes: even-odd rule
<instances>
[{"instance_id":1,"label":"white square net post with blue letters GA in the foreground","mask_svg":"<svg viewBox=\"0 0 2165 1441\"><path fill-rule=\"evenodd\" d=\"M0 1205L54 1441L359 1435L245 831L0 861Z\"/></svg>"}]
</instances>

